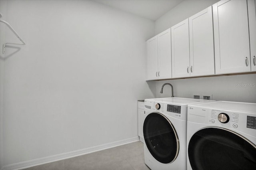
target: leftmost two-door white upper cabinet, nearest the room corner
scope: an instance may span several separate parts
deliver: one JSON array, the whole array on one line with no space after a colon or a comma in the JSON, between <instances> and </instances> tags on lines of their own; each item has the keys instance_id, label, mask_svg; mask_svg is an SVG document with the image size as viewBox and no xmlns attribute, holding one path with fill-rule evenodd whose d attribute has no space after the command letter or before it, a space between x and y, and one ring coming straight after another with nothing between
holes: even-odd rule
<instances>
[{"instance_id":1,"label":"leftmost two-door white upper cabinet, nearest the room corner","mask_svg":"<svg viewBox=\"0 0 256 170\"><path fill-rule=\"evenodd\" d=\"M147 41L147 80L172 78L170 28Z\"/></svg>"}]
</instances>

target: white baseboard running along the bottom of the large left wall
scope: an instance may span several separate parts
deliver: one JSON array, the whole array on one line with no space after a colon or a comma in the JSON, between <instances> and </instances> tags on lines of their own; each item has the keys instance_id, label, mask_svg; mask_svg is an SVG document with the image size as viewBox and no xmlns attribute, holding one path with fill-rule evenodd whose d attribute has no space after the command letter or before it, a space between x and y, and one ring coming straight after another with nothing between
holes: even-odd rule
<instances>
[{"instance_id":1,"label":"white baseboard running along the bottom of the large left wall","mask_svg":"<svg viewBox=\"0 0 256 170\"><path fill-rule=\"evenodd\" d=\"M52 156L46 156L46 157L43 157L43 158L28 160L28 161L24 161L24 162L18 162L18 163L15 163L15 164L9 164L9 165L3 166L1 168L1 170L19 170L19 169L23 169L23 168L29 168L29 167L32 167L32 166L37 166L37 165L46 164L46 163L49 163L49 162L54 162L54 161L58 161L58 160L72 158L72 157L75 157L75 156L89 154L89 153L92 153L92 152L97 152L97 151L100 151L100 150L105 150L105 149L108 149L108 148L113 148L113 147L116 147L116 146L132 143L132 142L136 142L136 141L139 141L139 137L128 138L128 139L119 140L119 141L116 141L116 142L110 142L110 143L107 143L107 144L93 146L93 147L90 147L90 148L84 148L84 149L75 150L75 151L71 151L71 152L66 152L66 153L62 153L62 154L56 154L56 155L52 155Z\"/></svg>"}]
</instances>

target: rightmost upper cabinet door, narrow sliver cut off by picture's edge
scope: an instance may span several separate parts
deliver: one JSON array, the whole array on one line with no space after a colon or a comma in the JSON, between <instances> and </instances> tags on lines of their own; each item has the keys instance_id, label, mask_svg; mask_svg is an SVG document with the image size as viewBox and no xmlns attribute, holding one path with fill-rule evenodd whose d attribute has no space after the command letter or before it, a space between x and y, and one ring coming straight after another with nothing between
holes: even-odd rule
<instances>
[{"instance_id":1,"label":"rightmost upper cabinet door, narrow sliver cut off by picture's edge","mask_svg":"<svg viewBox=\"0 0 256 170\"><path fill-rule=\"evenodd\" d=\"M248 0L248 19L250 31L251 69L256 71L256 2Z\"/></svg>"}]
</instances>

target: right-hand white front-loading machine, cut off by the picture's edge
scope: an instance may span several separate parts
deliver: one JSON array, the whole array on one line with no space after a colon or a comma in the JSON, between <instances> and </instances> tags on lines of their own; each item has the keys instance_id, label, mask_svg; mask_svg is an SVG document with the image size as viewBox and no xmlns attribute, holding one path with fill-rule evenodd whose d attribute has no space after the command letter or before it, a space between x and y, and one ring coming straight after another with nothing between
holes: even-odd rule
<instances>
[{"instance_id":1,"label":"right-hand white front-loading machine, cut off by the picture's edge","mask_svg":"<svg viewBox=\"0 0 256 170\"><path fill-rule=\"evenodd\" d=\"M188 170L256 170L256 103L188 105Z\"/></svg>"}]
</instances>

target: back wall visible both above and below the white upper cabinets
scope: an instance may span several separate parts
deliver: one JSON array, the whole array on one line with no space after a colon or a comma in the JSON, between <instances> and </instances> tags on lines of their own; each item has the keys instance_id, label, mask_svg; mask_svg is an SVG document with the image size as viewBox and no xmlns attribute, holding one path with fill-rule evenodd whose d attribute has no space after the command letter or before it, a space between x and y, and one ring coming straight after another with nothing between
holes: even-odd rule
<instances>
[{"instance_id":1,"label":"back wall visible both above and below the white upper cabinets","mask_svg":"<svg viewBox=\"0 0 256 170\"><path fill-rule=\"evenodd\" d=\"M218 0L184 0L156 20L155 35L216 2ZM213 95L213 100L256 103L256 87L254 86L256 84L256 74L156 81L156 97L170 97L170 87L168 85L164 87L163 94L160 93L164 83L173 85L174 96L176 97L192 98L193 95L206 94ZM248 86L247 83L252 84L252 87Z\"/></svg>"}]
</instances>

